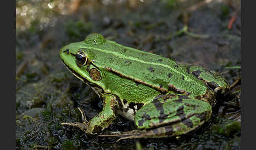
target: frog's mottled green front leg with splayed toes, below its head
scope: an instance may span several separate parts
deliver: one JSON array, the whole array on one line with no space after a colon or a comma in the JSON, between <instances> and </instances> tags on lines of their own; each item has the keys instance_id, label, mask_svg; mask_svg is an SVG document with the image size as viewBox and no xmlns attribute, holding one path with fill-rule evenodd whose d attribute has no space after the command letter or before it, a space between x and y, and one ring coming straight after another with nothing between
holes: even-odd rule
<instances>
[{"instance_id":1,"label":"frog's mottled green front leg with splayed toes, below its head","mask_svg":"<svg viewBox=\"0 0 256 150\"><path fill-rule=\"evenodd\" d=\"M94 116L89 122L86 121L85 115L81 109L83 123L62 123L61 125L72 125L81 128L87 134L97 134L108 127L116 118L117 102L113 95L103 95L103 110Z\"/></svg>"}]
</instances>

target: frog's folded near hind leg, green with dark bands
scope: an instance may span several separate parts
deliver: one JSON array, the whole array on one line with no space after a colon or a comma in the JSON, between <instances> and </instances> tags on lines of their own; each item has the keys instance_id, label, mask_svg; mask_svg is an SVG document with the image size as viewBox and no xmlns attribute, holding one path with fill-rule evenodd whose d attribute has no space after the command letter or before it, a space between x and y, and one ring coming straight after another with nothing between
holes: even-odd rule
<instances>
[{"instance_id":1,"label":"frog's folded near hind leg, green with dark bands","mask_svg":"<svg viewBox=\"0 0 256 150\"><path fill-rule=\"evenodd\" d=\"M150 129L142 137L179 136L210 119L211 105L197 99L155 99L135 114L138 128Z\"/></svg>"}]
</instances>

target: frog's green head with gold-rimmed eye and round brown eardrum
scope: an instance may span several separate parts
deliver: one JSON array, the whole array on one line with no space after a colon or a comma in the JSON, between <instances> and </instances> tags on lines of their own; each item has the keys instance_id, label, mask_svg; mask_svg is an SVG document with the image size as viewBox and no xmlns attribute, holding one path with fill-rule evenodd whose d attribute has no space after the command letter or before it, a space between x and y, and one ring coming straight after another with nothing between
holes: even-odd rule
<instances>
[{"instance_id":1,"label":"frog's green head with gold-rimmed eye and round brown eardrum","mask_svg":"<svg viewBox=\"0 0 256 150\"><path fill-rule=\"evenodd\" d=\"M93 63L95 61L93 48L104 41L102 35L91 34L85 38L85 41L69 44L60 51L60 57L68 70L94 90L105 87L103 83L104 73Z\"/></svg>"}]
</instances>

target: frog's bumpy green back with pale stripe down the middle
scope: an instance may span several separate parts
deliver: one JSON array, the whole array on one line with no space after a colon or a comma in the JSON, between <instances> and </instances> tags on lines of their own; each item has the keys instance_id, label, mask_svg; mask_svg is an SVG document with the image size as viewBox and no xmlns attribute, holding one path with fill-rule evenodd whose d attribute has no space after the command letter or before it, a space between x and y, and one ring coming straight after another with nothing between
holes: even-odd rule
<instances>
[{"instance_id":1,"label":"frog's bumpy green back with pale stripe down the middle","mask_svg":"<svg viewBox=\"0 0 256 150\"><path fill-rule=\"evenodd\" d=\"M93 50L95 65L163 92L173 90L196 96L207 89L203 81L171 59L109 40L85 48Z\"/></svg>"}]
</instances>

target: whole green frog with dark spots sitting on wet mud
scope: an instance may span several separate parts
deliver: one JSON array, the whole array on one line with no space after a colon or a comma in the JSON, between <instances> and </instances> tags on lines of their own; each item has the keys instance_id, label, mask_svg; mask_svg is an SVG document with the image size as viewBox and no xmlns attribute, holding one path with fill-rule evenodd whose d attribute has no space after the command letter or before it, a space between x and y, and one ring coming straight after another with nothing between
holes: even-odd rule
<instances>
[{"instance_id":1,"label":"whole green frog with dark spots sitting on wet mud","mask_svg":"<svg viewBox=\"0 0 256 150\"><path fill-rule=\"evenodd\" d=\"M229 91L229 83L208 69L179 65L100 34L64 46L60 57L103 102L90 121L78 108L82 123L62 123L87 134L102 133L120 114L137 127L122 138L180 137L208 121L219 96Z\"/></svg>"}]
</instances>

